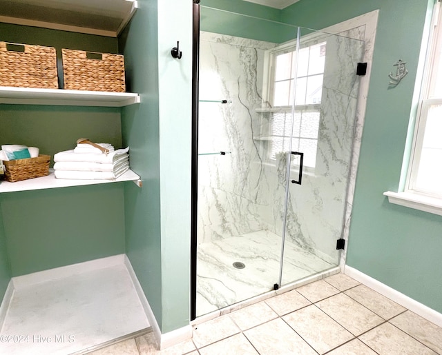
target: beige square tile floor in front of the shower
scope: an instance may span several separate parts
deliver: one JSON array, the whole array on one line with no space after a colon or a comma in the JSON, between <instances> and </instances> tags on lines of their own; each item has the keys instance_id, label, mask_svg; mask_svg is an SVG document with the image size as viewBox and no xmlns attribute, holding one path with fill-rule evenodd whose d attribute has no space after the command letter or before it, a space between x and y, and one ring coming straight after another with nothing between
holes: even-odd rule
<instances>
[{"instance_id":1,"label":"beige square tile floor in front of the shower","mask_svg":"<svg viewBox=\"0 0 442 355\"><path fill-rule=\"evenodd\" d=\"M344 274L194 325L157 350L153 333L92 354L442 354L442 328Z\"/></svg>"}]
</instances>

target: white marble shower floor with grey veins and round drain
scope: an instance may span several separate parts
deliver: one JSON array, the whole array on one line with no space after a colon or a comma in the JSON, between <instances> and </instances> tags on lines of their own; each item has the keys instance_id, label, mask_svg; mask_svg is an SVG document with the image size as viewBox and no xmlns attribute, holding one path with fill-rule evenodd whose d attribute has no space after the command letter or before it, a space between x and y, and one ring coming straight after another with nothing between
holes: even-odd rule
<instances>
[{"instance_id":1,"label":"white marble shower floor with grey veins and round drain","mask_svg":"<svg viewBox=\"0 0 442 355\"><path fill-rule=\"evenodd\" d=\"M198 245L197 316L273 290L280 253L281 237L266 230ZM284 253L282 284L336 266L288 241ZM235 262L245 267L237 269Z\"/></svg>"}]
</instances>

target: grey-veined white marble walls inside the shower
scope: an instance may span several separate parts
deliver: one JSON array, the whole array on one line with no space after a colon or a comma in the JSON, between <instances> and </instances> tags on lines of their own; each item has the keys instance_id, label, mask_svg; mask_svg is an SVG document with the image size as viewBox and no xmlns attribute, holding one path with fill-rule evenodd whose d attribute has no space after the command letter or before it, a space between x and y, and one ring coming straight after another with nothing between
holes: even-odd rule
<instances>
[{"instance_id":1,"label":"grey-veined white marble walls inside the shower","mask_svg":"<svg viewBox=\"0 0 442 355\"><path fill-rule=\"evenodd\" d=\"M231 154L200 156L199 243L258 230L280 235L287 156L269 159L269 141L257 138L270 134L273 114L256 111L265 97L266 51L278 44L207 32L200 38L200 101L228 103L200 102L199 152ZM286 236L337 263L334 245L342 232L358 94L354 66L363 42L326 40L316 167L302 185L289 186Z\"/></svg>"}]
</instances>

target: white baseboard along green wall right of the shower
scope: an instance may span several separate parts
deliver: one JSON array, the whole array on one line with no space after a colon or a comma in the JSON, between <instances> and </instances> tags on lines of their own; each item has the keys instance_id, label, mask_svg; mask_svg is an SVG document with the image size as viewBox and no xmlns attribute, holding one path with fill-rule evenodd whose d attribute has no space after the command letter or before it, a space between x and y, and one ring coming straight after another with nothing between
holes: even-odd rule
<instances>
[{"instance_id":1,"label":"white baseboard along green wall right of the shower","mask_svg":"<svg viewBox=\"0 0 442 355\"><path fill-rule=\"evenodd\" d=\"M383 296L390 298L392 301L398 303L399 305L407 308L408 310L419 314L419 316L427 319L428 321L439 325L442 327L442 314L432 310L432 308L415 301L409 296L405 296L401 292L394 290L392 287L377 281L375 278L363 274L359 270L354 269L354 267L345 265L344 274L354 278L356 281L363 283L365 286L371 288L372 290L382 294Z\"/></svg>"}]
</instances>

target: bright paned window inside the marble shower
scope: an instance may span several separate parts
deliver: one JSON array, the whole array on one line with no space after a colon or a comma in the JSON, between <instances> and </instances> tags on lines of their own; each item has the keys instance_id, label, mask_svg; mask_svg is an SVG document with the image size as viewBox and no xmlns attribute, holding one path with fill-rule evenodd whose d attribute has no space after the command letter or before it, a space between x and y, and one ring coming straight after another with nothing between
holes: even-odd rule
<instances>
[{"instance_id":1,"label":"bright paned window inside the marble shower","mask_svg":"<svg viewBox=\"0 0 442 355\"><path fill-rule=\"evenodd\" d=\"M270 102L273 109L280 110L271 113L270 159L275 160L279 153L287 152L291 139L291 150L304 152L305 167L315 168L325 48L323 42L300 49L298 55L293 47L273 52ZM290 132L294 99L294 125Z\"/></svg>"}]
</instances>

